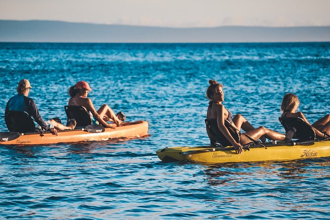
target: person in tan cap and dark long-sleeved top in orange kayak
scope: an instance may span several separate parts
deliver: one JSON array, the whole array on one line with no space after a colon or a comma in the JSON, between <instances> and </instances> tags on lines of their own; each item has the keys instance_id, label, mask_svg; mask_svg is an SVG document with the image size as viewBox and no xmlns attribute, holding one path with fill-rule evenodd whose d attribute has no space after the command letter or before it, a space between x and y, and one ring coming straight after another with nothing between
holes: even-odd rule
<instances>
[{"instance_id":1,"label":"person in tan cap and dark long-sleeved top in orange kayak","mask_svg":"<svg viewBox=\"0 0 330 220\"><path fill-rule=\"evenodd\" d=\"M31 88L32 87L29 80L22 79L21 81L19 81L17 86L18 94L9 99L6 106L5 115L10 110L24 111L28 113L30 117L33 117L35 122L37 122L37 131L50 131L54 135L58 135L58 130L71 130L75 128L75 121L72 121L70 126L65 126L61 123L56 122L53 119L44 121L39 114L36 102L28 97Z\"/></svg>"}]
</instances>

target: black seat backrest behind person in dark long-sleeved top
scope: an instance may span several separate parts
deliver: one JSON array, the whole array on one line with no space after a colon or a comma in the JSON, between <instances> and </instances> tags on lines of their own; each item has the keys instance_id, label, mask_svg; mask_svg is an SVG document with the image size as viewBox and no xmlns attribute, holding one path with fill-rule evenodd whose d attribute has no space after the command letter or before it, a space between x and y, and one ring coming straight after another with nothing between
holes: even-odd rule
<instances>
[{"instance_id":1,"label":"black seat backrest behind person in dark long-sleeved top","mask_svg":"<svg viewBox=\"0 0 330 220\"><path fill-rule=\"evenodd\" d=\"M35 132L35 121L24 111L10 110L4 116L9 131L27 133Z\"/></svg>"}]
</instances>

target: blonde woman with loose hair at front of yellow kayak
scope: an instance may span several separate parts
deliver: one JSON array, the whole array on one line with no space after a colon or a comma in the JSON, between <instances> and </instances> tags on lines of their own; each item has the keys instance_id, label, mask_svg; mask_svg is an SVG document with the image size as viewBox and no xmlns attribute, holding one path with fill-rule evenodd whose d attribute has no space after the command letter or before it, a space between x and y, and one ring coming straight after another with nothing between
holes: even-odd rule
<instances>
[{"instance_id":1,"label":"blonde woman with loose hair at front of yellow kayak","mask_svg":"<svg viewBox=\"0 0 330 220\"><path fill-rule=\"evenodd\" d=\"M330 133L330 114L317 120L315 123L310 124L301 111L296 112L300 102L296 95L287 93L282 100L281 110L283 111L282 117L300 117L306 123L312 126L317 137L325 138Z\"/></svg>"}]
</instances>

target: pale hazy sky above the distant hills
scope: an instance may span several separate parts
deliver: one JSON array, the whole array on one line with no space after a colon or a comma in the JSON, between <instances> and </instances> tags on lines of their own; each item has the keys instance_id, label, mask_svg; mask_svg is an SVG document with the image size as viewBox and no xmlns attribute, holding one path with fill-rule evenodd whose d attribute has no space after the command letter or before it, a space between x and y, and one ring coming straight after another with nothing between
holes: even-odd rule
<instances>
[{"instance_id":1,"label":"pale hazy sky above the distant hills","mask_svg":"<svg viewBox=\"0 0 330 220\"><path fill-rule=\"evenodd\" d=\"M0 20L177 28L330 26L330 0L0 0Z\"/></svg>"}]
</instances>

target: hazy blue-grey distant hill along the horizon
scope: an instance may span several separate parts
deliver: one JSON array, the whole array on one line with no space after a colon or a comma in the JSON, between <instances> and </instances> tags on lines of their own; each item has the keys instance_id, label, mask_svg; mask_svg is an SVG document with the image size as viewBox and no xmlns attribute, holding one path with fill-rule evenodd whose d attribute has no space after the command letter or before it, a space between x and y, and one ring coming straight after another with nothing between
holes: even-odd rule
<instances>
[{"instance_id":1,"label":"hazy blue-grey distant hill along the horizon","mask_svg":"<svg viewBox=\"0 0 330 220\"><path fill-rule=\"evenodd\" d=\"M61 21L0 20L2 42L306 42L330 41L327 27L164 28Z\"/></svg>"}]
</instances>

